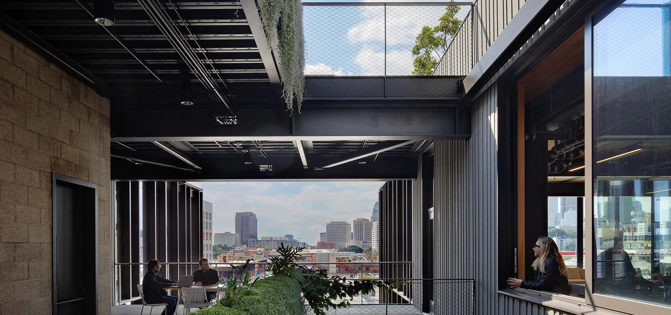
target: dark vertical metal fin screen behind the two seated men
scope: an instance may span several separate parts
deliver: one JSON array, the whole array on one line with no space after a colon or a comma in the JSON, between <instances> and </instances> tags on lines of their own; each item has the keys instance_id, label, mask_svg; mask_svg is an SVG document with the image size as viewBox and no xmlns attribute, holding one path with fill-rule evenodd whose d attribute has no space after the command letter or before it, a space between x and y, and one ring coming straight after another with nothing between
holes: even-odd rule
<instances>
[{"instance_id":1,"label":"dark vertical metal fin screen behind the two seated men","mask_svg":"<svg viewBox=\"0 0 671 315\"><path fill-rule=\"evenodd\" d=\"M185 263L161 269L171 280L197 268L188 263L197 263L203 253L203 191L165 181L117 181L114 187L116 296L117 302L132 302L146 273L141 263Z\"/></svg>"}]
</instances>

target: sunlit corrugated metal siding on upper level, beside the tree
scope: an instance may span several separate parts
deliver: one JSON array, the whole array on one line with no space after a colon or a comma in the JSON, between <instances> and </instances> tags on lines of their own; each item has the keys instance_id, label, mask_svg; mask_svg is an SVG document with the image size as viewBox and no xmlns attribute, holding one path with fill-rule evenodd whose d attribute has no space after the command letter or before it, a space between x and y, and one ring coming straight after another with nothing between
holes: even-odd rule
<instances>
[{"instance_id":1,"label":"sunlit corrugated metal siding on upper level, beside the tree","mask_svg":"<svg viewBox=\"0 0 671 315\"><path fill-rule=\"evenodd\" d=\"M454 35L434 75L466 76L525 0L480 0Z\"/></svg>"}]
</instances>

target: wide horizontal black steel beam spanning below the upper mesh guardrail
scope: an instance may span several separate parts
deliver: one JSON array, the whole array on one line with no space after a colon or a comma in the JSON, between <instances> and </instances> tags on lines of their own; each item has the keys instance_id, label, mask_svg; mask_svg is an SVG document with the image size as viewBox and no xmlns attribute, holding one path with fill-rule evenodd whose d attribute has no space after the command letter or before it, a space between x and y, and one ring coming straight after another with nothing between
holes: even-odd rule
<instances>
[{"instance_id":1,"label":"wide horizontal black steel beam spanning below the upper mesh guardrail","mask_svg":"<svg viewBox=\"0 0 671 315\"><path fill-rule=\"evenodd\" d=\"M366 104L360 102L360 104ZM427 140L470 138L470 108L238 110L223 126L207 110L124 108L113 113L112 141ZM179 126L180 128L174 128Z\"/></svg>"}]
</instances>

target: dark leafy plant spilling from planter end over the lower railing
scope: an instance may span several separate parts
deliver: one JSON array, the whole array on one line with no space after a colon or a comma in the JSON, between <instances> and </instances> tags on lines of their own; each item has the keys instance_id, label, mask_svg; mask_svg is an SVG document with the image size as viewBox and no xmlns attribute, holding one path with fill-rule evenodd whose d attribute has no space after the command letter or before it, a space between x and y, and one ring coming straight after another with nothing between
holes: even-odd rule
<instances>
[{"instance_id":1,"label":"dark leafy plant spilling from planter end over the lower railing","mask_svg":"<svg viewBox=\"0 0 671 315\"><path fill-rule=\"evenodd\" d=\"M323 269L313 270L299 265L296 261L303 249L305 247L285 246L284 243L280 243L277 249L279 256L274 257L270 262L270 270L274 275L289 276L295 279L301 285L303 298L317 315L325 315L324 310L329 308L350 306L349 301L358 294L370 294L376 288L391 290L399 286L398 282L386 280L347 280L344 277L329 276L328 272ZM334 303L333 300L342 301Z\"/></svg>"}]
</instances>

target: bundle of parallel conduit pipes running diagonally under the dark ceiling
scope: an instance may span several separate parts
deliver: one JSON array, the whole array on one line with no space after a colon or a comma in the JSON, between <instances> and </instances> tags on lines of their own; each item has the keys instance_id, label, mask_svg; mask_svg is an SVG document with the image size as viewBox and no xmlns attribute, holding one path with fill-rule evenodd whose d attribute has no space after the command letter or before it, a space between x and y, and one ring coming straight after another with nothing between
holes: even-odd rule
<instances>
[{"instance_id":1,"label":"bundle of parallel conduit pipes running diagonally under the dark ceiling","mask_svg":"<svg viewBox=\"0 0 671 315\"><path fill-rule=\"evenodd\" d=\"M225 96L219 91L219 86L211 78L209 72L203 67L203 64L200 62L199 58L192 54L191 47L188 46L185 41L178 34L178 30L173 26L172 19L169 19L164 12L162 12L162 5L153 0L138 0L138 3L142 6L144 11L149 15L149 17L154 20L154 23L160 29L161 33L168 39L170 45L175 49L177 54L184 60L184 62L191 68L191 71L198 80L203 83L203 85L210 90L210 92L215 96L215 100L221 102L231 115L235 116L235 113ZM161 7L159 7L161 6Z\"/></svg>"}]
</instances>

